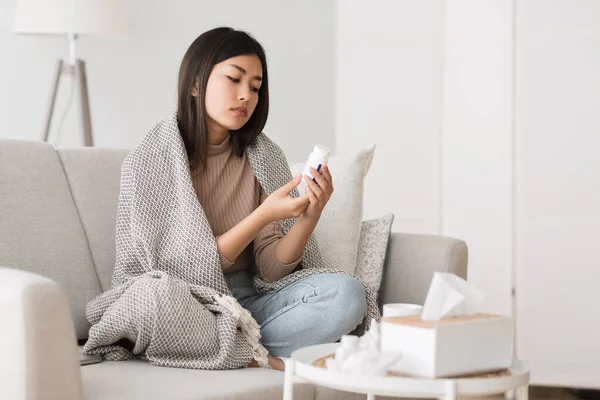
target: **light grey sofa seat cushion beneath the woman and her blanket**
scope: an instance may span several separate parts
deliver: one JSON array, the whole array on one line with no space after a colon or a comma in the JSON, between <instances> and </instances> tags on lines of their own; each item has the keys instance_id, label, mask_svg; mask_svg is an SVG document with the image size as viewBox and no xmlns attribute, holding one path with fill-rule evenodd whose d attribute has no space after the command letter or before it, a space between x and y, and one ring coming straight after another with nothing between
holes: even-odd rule
<instances>
[{"instance_id":1,"label":"light grey sofa seat cushion beneath the woman and her blanket","mask_svg":"<svg viewBox=\"0 0 600 400\"><path fill-rule=\"evenodd\" d=\"M283 372L156 367L141 360L104 361L81 368L86 400L281 400ZM313 400L314 387L294 384L294 400Z\"/></svg>"}]
</instances>

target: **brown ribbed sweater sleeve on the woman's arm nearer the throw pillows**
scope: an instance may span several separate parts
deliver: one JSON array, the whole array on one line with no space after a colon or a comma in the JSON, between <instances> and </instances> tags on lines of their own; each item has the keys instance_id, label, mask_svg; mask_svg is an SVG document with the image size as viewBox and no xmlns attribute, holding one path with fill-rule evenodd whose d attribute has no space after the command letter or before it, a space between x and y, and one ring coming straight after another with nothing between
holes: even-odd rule
<instances>
[{"instance_id":1,"label":"brown ribbed sweater sleeve on the woman's arm nearer the throw pillows","mask_svg":"<svg viewBox=\"0 0 600 400\"><path fill-rule=\"evenodd\" d=\"M260 203L267 198L267 194L260 189ZM277 244L285 236L283 228L278 221L273 221L265 226L254 239L254 259L258 273L267 282L274 282L291 273L302 261L302 255L289 264L279 261L276 254Z\"/></svg>"}]
</instances>

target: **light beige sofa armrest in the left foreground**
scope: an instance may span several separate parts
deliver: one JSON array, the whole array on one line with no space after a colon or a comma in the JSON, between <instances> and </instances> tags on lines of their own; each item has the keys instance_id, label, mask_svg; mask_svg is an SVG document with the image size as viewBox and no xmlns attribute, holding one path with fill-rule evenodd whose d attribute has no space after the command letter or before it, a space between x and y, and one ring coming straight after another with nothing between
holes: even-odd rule
<instances>
[{"instance_id":1,"label":"light beige sofa armrest in the left foreground","mask_svg":"<svg viewBox=\"0 0 600 400\"><path fill-rule=\"evenodd\" d=\"M43 276L0 267L0 399L83 398L66 295Z\"/></svg>"}]
</instances>

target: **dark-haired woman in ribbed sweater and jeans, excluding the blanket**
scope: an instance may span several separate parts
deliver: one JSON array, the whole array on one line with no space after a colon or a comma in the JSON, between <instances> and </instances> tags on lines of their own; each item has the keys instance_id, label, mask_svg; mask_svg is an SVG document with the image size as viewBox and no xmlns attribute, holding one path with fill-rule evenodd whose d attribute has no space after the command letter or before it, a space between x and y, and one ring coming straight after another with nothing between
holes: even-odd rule
<instances>
[{"instance_id":1,"label":"dark-haired woman in ribbed sweater and jeans, excluding the blanket","mask_svg":"<svg viewBox=\"0 0 600 400\"><path fill-rule=\"evenodd\" d=\"M289 193L302 176L269 196L255 178L245 148L267 121L268 83L265 53L255 39L230 28L208 31L183 58L177 121L227 284L260 325L263 345L289 357L351 332L366 304L362 285L343 274L313 275L266 294L253 288L253 273L276 281L298 266L333 193L327 166L322 174L312 170L316 182L304 176L306 195L298 198ZM284 235L279 221L298 216Z\"/></svg>"}]
</instances>

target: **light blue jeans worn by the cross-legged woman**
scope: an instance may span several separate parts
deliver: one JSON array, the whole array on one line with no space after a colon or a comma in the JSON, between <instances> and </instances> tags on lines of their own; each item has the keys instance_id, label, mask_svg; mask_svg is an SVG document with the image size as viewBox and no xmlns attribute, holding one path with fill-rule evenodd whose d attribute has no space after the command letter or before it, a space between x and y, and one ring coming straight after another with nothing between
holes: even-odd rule
<instances>
[{"instance_id":1,"label":"light blue jeans worn by the cross-legged woman","mask_svg":"<svg viewBox=\"0 0 600 400\"><path fill-rule=\"evenodd\" d=\"M312 275L264 294L256 293L246 271L226 274L225 281L258 322L262 344L276 357L339 340L362 322L367 308L363 286L345 274Z\"/></svg>"}]
</instances>

